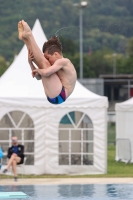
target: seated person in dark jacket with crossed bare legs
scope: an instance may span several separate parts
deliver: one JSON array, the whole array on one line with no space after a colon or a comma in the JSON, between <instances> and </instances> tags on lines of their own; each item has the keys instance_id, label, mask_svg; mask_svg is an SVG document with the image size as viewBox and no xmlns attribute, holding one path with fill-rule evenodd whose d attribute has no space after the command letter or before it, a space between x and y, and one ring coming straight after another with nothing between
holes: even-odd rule
<instances>
[{"instance_id":1,"label":"seated person in dark jacket with crossed bare legs","mask_svg":"<svg viewBox=\"0 0 133 200\"><path fill-rule=\"evenodd\" d=\"M16 136L12 137L12 146L8 148L7 157L9 158L9 161L6 169L3 170L3 173L6 173L9 167L12 166L14 181L17 181L16 165L22 164L24 162L24 146L18 144L18 139Z\"/></svg>"}]
</instances>

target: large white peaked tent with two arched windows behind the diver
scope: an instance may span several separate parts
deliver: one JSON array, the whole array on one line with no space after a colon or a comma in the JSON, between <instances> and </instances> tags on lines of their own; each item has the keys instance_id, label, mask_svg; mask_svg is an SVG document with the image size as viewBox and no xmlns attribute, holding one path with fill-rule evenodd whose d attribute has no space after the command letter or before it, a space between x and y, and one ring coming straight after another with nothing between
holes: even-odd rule
<instances>
[{"instance_id":1,"label":"large white peaked tent with two arched windows behind the diver","mask_svg":"<svg viewBox=\"0 0 133 200\"><path fill-rule=\"evenodd\" d=\"M46 37L37 20L39 47ZM0 139L6 151L12 135L25 146L28 174L107 172L107 98L78 81L60 105L50 104L41 81L31 77L24 46L0 79Z\"/></svg>"}]
</instances>

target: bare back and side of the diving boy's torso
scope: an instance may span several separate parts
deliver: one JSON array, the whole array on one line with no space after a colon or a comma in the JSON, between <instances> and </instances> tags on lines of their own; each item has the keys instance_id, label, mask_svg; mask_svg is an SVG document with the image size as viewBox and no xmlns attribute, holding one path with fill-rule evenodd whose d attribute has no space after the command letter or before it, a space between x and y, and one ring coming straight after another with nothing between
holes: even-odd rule
<instances>
[{"instance_id":1,"label":"bare back and side of the diving boy's torso","mask_svg":"<svg viewBox=\"0 0 133 200\"><path fill-rule=\"evenodd\" d=\"M71 63L71 61L67 58L62 58L66 60L66 65L60 69L56 74L58 75L62 85L65 88L67 98L73 92L76 80L77 80L77 73L76 70Z\"/></svg>"}]
</instances>

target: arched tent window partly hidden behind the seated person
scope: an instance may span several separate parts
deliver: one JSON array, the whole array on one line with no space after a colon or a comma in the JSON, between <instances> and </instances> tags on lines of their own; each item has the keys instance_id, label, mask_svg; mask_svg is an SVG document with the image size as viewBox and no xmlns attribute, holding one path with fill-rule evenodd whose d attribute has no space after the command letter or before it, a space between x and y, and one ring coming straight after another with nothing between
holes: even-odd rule
<instances>
[{"instance_id":1,"label":"arched tent window partly hidden behind the seated person","mask_svg":"<svg viewBox=\"0 0 133 200\"><path fill-rule=\"evenodd\" d=\"M34 165L34 123L28 114L12 111L0 120L0 141L5 155L12 145L12 136L17 136L18 142L25 147L26 165ZM3 164L6 164L6 157Z\"/></svg>"}]
</instances>

